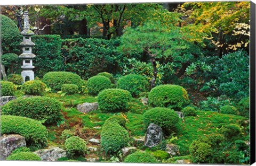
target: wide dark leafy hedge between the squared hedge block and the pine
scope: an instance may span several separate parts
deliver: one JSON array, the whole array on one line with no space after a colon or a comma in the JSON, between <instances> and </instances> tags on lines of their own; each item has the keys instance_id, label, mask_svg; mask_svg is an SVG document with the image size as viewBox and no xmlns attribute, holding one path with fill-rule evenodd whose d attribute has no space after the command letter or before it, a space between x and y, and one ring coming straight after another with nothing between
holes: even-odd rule
<instances>
[{"instance_id":1,"label":"wide dark leafy hedge between the squared hedge block and the pine","mask_svg":"<svg viewBox=\"0 0 256 166\"><path fill-rule=\"evenodd\" d=\"M65 57L67 71L87 80L100 72L118 71L118 44L118 39L64 39L61 55Z\"/></svg>"}]
</instances>

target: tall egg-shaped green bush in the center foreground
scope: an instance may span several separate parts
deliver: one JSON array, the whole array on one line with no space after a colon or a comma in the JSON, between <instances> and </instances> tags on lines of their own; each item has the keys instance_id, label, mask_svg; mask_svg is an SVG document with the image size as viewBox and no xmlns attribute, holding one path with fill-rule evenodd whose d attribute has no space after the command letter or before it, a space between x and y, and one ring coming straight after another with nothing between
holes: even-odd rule
<instances>
[{"instance_id":1,"label":"tall egg-shaped green bush in the center foreground","mask_svg":"<svg viewBox=\"0 0 256 166\"><path fill-rule=\"evenodd\" d=\"M101 146L105 153L115 154L129 143L127 130L119 125L122 118L113 118L103 125L101 131ZM121 120L121 121L119 121ZM119 123L118 123L119 122Z\"/></svg>"}]
</instances>

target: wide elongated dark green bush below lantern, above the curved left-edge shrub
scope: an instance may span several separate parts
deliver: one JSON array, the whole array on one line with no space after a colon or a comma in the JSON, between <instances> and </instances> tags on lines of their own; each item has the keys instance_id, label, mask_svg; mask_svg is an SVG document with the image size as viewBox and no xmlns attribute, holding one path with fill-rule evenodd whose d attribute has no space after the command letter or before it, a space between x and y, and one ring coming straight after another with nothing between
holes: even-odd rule
<instances>
[{"instance_id":1,"label":"wide elongated dark green bush below lantern, above the curved left-edge shrub","mask_svg":"<svg viewBox=\"0 0 256 166\"><path fill-rule=\"evenodd\" d=\"M61 104L49 97L18 98L9 101L2 108L3 115L15 115L43 120L45 124L61 119Z\"/></svg>"}]
</instances>

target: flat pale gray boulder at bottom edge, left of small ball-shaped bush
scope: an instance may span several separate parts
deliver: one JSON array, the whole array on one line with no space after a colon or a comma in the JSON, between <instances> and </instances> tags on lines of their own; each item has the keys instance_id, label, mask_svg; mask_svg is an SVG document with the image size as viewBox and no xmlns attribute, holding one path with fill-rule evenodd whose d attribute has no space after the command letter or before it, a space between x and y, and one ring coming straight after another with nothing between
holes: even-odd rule
<instances>
[{"instance_id":1,"label":"flat pale gray boulder at bottom edge, left of small ball-shaped bush","mask_svg":"<svg viewBox=\"0 0 256 166\"><path fill-rule=\"evenodd\" d=\"M42 149L34 152L42 161L57 161L59 158L66 157L66 151L59 147L50 146L49 149Z\"/></svg>"}]
</instances>

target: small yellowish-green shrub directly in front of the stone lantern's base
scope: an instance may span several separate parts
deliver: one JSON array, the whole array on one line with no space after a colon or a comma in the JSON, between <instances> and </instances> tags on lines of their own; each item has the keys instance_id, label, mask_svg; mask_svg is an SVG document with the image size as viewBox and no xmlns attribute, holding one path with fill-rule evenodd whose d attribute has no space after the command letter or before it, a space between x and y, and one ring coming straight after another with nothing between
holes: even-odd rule
<instances>
[{"instance_id":1,"label":"small yellowish-green shrub directly in front of the stone lantern's base","mask_svg":"<svg viewBox=\"0 0 256 166\"><path fill-rule=\"evenodd\" d=\"M21 90L28 95L43 95L45 93L46 85L40 80L26 81Z\"/></svg>"}]
</instances>

